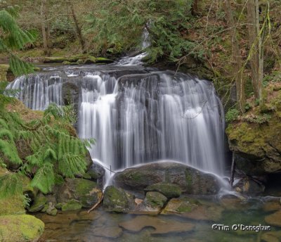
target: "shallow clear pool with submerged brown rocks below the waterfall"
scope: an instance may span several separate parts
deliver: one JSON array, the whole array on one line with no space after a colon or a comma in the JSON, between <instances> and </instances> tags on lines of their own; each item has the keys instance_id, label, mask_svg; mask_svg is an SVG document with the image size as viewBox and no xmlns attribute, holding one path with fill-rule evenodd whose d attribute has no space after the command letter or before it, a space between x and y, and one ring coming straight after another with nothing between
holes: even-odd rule
<instances>
[{"instance_id":1,"label":"shallow clear pool with submerged brown rocks below the waterfall","mask_svg":"<svg viewBox=\"0 0 281 242\"><path fill-rule=\"evenodd\" d=\"M259 226L259 224L268 226L265 217L277 210L276 205L280 205L277 199L266 203L263 198L250 198L242 202L237 199L224 199L219 202L223 212L216 221L190 219L184 215L119 214L105 212L102 208L93 210L89 214L86 210L80 210L59 212L55 217L39 213L37 217L43 220L46 226L40 241L256 242L273 241L274 236L276 239L281 238L281 229L270 227L270 231L243 231L240 228L250 225ZM207 212L214 211L207 210ZM232 228L235 224L237 230L235 227ZM221 229L215 229L218 227ZM272 234L274 236L270 237ZM266 240L267 238L269 240Z\"/></svg>"}]
</instances>

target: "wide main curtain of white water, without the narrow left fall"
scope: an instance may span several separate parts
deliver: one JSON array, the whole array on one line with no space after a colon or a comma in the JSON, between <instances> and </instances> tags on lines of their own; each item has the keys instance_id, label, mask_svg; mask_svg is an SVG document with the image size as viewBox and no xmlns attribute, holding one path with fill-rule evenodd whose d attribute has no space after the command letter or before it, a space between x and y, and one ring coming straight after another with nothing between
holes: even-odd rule
<instances>
[{"instance_id":1,"label":"wide main curtain of white water, without the narrow left fall","mask_svg":"<svg viewBox=\"0 0 281 242\"><path fill-rule=\"evenodd\" d=\"M114 170L169 159L222 174L223 111L213 85L162 72L139 78L112 93L82 89L79 135L97 140L92 157Z\"/></svg>"}]
</instances>

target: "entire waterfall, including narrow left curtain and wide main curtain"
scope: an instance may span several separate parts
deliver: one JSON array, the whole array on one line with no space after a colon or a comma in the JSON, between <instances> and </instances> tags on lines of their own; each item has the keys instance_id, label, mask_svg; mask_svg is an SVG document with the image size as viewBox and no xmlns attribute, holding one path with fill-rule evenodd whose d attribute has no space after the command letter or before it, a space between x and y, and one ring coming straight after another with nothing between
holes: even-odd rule
<instances>
[{"instance_id":1,"label":"entire waterfall, including narrow left curtain and wide main curtain","mask_svg":"<svg viewBox=\"0 0 281 242\"><path fill-rule=\"evenodd\" d=\"M79 137L96 139L92 158L113 170L176 160L223 174L223 108L211 82L170 71L100 68L18 77L8 88L20 89L17 97L28 107L44 110L51 102L63 105L62 90L75 86L67 93L78 90Z\"/></svg>"}]
</instances>

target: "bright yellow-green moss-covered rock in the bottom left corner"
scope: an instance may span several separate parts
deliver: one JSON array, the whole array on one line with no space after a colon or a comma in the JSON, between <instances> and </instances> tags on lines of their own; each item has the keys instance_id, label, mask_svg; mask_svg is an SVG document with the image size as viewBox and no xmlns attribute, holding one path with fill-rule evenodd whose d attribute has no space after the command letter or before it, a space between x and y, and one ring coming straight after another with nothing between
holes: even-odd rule
<instances>
[{"instance_id":1,"label":"bright yellow-green moss-covered rock in the bottom left corner","mask_svg":"<svg viewBox=\"0 0 281 242\"><path fill-rule=\"evenodd\" d=\"M44 222L31 215L0 216L0 241L37 241Z\"/></svg>"}]
</instances>

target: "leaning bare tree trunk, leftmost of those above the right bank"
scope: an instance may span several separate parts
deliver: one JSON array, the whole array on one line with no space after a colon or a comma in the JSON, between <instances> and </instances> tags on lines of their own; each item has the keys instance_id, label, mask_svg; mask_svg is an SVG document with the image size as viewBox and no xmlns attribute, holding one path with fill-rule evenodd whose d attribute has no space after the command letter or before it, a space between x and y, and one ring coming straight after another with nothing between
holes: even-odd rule
<instances>
[{"instance_id":1,"label":"leaning bare tree trunk, leftmost of those above the right bank","mask_svg":"<svg viewBox=\"0 0 281 242\"><path fill-rule=\"evenodd\" d=\"M233 58L235 60L235 84L236 84L236 100L239 110L244 113L244 103L245 103L245 94L244 94L244 79L242 76L242 57L240 54L239 43L236 37L235 22L233 18L233 12L231 10L230 1L225 0L223 3L226 18L228 20L228 27L230 28L231 37L232 37L232 52Z\"/></svg>"}]
</instances>

